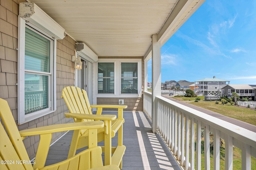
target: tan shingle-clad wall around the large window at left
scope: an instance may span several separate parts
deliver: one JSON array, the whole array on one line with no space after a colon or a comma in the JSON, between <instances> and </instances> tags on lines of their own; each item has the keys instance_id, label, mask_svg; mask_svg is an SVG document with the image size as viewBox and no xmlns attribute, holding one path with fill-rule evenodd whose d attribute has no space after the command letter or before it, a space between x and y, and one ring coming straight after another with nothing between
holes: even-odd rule
<instances>
[{"instance_id":1,"label":"tan shingle-clad wall around the large window at left","mask_svg":"<svg viewBox=\"0 0 256 170\"><path fill-rule=\"evenodd\" d=\"M6 100L12 111L14 120L18 122L17 104L17 63L18 63L18 3L25 0L0 1L0 98ZM56 103L57 110L53 113L34 119L22 125L19 130L41 127L46 125L69 123L73 119L66 119L68 108L61 98L61 91L65 86L74 86L74 63L72 55L75 54L75 41L69 36L57 41L56 58ZM2 120L1 120L2 123ZM55 133L52 142L64 134ZM39 144L39 135L26 137L24 145L30 158L34 158Z\"/></svg>"}]
</instances>

